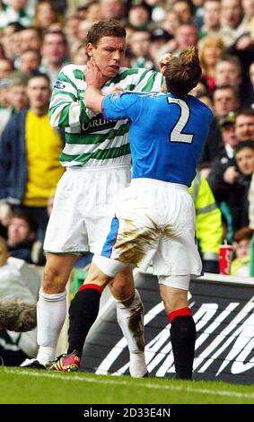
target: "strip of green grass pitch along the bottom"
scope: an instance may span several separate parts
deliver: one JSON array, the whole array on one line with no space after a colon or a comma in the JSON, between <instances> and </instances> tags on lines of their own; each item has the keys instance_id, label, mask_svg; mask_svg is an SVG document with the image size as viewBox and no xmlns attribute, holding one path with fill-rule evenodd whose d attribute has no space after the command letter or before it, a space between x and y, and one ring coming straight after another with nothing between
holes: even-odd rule
<instances>
[{"instance_id":1,"label":"strip of green grass pitch along the bottom","mask_svg":"<svg viewBox=\"0 0 254 422\"><path fill-rule=\"evenodd\" d=\"M0 403L254 403L253 386L0 368Z\"/></svg>"}]
</instances>

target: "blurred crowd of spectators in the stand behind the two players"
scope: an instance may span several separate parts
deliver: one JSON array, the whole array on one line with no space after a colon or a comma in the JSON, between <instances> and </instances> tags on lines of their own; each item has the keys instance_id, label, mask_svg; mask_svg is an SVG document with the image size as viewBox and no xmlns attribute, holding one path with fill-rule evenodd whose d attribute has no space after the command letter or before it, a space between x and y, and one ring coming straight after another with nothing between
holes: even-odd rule
<instances>
[{"instance_id":1,"label":"blurred crowd of spectators in the stand behind the two players","mask_svg":"<svg viewBox=\"0 0 254 422\"><path fill-rule=\"evenodd\" d=\"M228 242L243 227L254 229L254 0L3 0L0 235L27 262L43 263L33 246L43 242L64 171L57 162L63 134L49 128L50 87L67 63L85 65L87 31L109 18L127 29L123 66L157 69L162 54L197 45L203 77L191 93L215 116L198 170L223 213Z\"/></svg>"}]
</instances>

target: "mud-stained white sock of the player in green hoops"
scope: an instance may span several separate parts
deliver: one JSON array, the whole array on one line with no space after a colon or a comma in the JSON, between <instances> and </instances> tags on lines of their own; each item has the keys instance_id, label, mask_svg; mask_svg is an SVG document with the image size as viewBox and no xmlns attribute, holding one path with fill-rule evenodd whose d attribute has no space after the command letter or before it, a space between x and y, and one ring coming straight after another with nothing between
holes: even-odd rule
<instances>
[{"instance_id":1,"label":"mud-stained white sock of the player in green hoops","mask_svg":"<svg viewBox=\"0 0 254 422\"><path fill-rule=\"evenodd\" d=\"M145 365L144 307L137 290L133 301L129 299L117 302L118 324L127 340L130 352L131 376L144 376Z\"/></svg>"}]
</instances>

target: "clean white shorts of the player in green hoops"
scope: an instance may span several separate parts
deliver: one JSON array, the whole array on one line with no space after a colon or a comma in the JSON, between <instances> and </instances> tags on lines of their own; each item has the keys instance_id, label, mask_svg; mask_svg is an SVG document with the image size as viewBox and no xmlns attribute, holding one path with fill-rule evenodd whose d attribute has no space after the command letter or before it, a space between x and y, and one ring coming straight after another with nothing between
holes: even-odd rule
<instances>
[{"instance_id":1,"label":"clean white shorts of the player in green hoops","mask_svg":"<svg viewBox=\"0 0 254 422\"><path fill-rule=\"evenodd\" d=\"M72 167L59 180L44 250L101 251L119 191L130 182L129 166Z\"/></svg>"}]
</instances>

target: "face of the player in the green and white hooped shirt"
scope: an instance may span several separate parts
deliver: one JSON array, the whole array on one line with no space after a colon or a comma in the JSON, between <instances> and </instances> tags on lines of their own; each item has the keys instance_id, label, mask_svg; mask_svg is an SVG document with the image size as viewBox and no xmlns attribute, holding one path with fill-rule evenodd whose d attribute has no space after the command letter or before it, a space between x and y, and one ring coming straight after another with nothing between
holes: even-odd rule
<instances>
[{"instance_id":1,"label":"face of the player in the green and white hooped shirt","mask_svg":"<svg viewBox=\"0 0 254 422\"><path fill-rule=\"evenodd\" d=\"M91 43L87 45L87 53L108 80L118 74L121 61L125 56L125 48L124 37L102 37L96 47Z\"/></svg>"}]
</instances>

